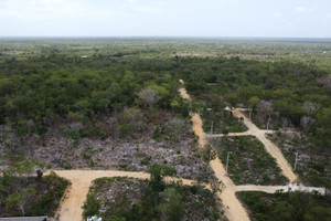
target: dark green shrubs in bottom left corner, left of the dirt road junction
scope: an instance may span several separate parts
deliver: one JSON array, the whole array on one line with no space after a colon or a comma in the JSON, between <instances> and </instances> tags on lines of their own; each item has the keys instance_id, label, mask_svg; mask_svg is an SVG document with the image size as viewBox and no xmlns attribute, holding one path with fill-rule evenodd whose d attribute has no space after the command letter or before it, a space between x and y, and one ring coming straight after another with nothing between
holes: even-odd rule
<instances>
[{"instance_id":1,"label":"dark green shrubs in bottom left corner, left of the dirt road junction","mask_svg":"<svg viewBox=\"0 0 331 221\"><path fill-rule=\"evenodd\" d=\"M34 160L17 162L0 173L0 217L54 217L70 181L54 172L43 176Z\"/></svg>"}]
</instances>

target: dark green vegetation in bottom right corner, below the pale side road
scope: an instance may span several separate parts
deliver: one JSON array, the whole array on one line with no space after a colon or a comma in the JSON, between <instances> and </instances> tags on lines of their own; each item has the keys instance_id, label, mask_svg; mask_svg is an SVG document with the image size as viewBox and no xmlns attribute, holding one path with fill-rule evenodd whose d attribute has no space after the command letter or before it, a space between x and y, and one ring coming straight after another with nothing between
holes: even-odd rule
<instances>
[{"instance_id":1,"label":"dark green vegetation in bottom right corner, below the pale side road","mask_svg":"<svg viewBox=\"0 0 331 221\"><path fill-rule=\"evenodd\" d=\"M331 198L307 192L237 192L253 221L330 221Z\"/></svg>"}]
</instances>

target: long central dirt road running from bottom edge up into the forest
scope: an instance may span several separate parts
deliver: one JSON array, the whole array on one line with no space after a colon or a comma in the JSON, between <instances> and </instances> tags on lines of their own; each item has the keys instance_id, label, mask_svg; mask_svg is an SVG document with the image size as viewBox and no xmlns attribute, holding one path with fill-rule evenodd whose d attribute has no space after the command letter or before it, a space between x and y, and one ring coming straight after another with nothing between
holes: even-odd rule
<instances>
[{"instance_id":1,"label":"long central dirt road running from bottom edge up into the forest","mask_svg":"<svg viewBox=\"0 0 331 221\"><path fill-rule=\"evenodd\" d=\"M182 84L184 83L182 80L180 80L180 82ZM184 99L190 99L190 95L186 93L185 88L180 88L179 92ZM203 147L207 143L205 140L206 135L202 129L202 119L197 114L191 114L191 116L193 130L199 136L200 146ZM225 215L227 217L227 219L231 221L248 221L249 217L245 208L235 196L235 185L227 176L225 176L224 166L222 165L218 157L212 160L210 162L210 166L213 169L215 177L225 185L224 191L222 193L218 193L217 196L218 198L221 198L225 207Z\"/></svg>"}]
</instances>

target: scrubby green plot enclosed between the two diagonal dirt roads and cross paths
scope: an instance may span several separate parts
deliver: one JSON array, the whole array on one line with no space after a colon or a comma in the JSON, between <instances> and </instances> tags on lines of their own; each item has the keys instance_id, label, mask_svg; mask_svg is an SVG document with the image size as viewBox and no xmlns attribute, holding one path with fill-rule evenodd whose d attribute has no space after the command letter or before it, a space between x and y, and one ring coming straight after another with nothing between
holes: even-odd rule
<instances>
[{"instance_id":1,"label":"scrubby green plot enclosed between the two diagonal dirt roads and cross paths","mask_svg":"<svg viewBox=\"0 0 331 221\"><path fill-rule=\"evenodd\" d=\"M222 137L212 139L222 162L226 164L229 151L228 175L236 185L285 185L275 159L266 152L254 136Z\"/></svg>"}]
</instances>

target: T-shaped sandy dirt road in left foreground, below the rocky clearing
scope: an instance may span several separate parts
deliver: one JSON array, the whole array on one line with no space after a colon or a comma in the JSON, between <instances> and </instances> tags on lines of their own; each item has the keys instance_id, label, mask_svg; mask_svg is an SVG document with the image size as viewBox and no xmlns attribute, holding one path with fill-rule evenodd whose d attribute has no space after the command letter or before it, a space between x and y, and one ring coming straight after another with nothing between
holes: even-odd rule
<instances>
[{"instance_id":1,"label":"T-shaped sandy dirt road in left foreground, below the rocky clearing","mask_svg":"<svg viewBox=\"0 0 331 221\"><path fill-rule=\"evenodd\" d=\"M55 170L60 177L66 178L72 182L71 188L66 191L63 201L57 211L60 221L81 221L83 220L83 204L93 180L103 177L132 177L138 179L149 179L147 172L129 172L117 170ZM46 172L47 173L47 172ZM45 175L46 175L45 173ZM183 185L192 185L194 180L179 179L167 177L166 181L179 181Z\"/></svg>"}]
</instances>

